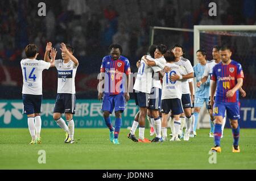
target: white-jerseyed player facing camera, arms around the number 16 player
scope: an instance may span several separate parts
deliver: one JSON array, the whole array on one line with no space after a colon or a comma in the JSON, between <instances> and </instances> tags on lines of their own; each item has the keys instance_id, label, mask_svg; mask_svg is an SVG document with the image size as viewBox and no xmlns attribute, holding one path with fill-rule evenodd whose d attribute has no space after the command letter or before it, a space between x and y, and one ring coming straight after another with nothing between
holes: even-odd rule
<instances>
[{"instance_id":1,"label":"white-jerseyed player facing camera, arms around the number 16 player","mask_svg":"<svg viewBox=\"0 0 256 181\"><path fill-rule=\"evenodd\" d=\"M182 106L183 106L183 110L184 110L185 114L182 113L180 116L181 117L180 128L183 129L184 122L185 122L186 129L185 129L184 141L188 141L191 123L192 123L192 117L191 117L192 100L191 100L191 98L193 98L191 96L192 90L190 90L192 86L189 86L188 79L194 77L194 75L193 75L194 71L193 71L191 62L188 59L182 57L183 56L183 47L181 47L181 45L177 45L177 44L174 45L174 47L172 48L172 52L174 53L174 56L175 56L175 64L184 66L184 68L187 71L186 75L173 74L171 76L171 81L177 81L179 79L183 79L181 102L182 102ZM165 68L164 70L170 71L170 68ZM192 82L190 82L190 83L192 83ZM184 116L186 117L185 121L184 121Z\"/></svg>"}]
</instances>

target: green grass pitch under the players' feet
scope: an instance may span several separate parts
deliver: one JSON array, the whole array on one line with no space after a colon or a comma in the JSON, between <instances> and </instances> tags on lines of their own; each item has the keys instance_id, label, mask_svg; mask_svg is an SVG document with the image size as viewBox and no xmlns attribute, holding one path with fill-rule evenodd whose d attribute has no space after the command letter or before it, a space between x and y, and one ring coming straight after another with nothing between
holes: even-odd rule
<instances>
[{"instance_id":1,"label":"green grass pitch under the players' feet","mask_svg":"<svg viewBox=\"0 0 256 181\"><path fill-rule=\"evenodd\" d=\"M241 129L241 153L232 153L232 131L225 129L216 164L208 161L209 129L200 129L187 142L150 144L129 140L128 132L121 129L120 145L113 145L108 129L80 128L75 129L76 143L64 144L61 129L43 128L42 144L29 145L28 129L1 128L0 169L256 169L256 129ZM46 151L45 164L38 163L39 150Z\"/></svg>"}]
</instances>

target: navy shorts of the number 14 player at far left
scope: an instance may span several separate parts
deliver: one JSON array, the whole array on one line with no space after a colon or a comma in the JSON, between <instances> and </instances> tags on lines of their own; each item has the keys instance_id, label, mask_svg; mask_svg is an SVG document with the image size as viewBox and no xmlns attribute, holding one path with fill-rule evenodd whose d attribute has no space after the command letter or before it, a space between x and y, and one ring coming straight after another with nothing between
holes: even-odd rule
<instances>
[{"instance_id":1,"label":"navy shorts of the number 14 player at far left","mask_svg":"<svg viewBox=\"0 0 256 181\"><path fill-rule=\"evenodd\" d=\"M26 113L26 115L40 113L42 98L42 95L22 94L23 113Z\"/></svg>"}]
</instances>

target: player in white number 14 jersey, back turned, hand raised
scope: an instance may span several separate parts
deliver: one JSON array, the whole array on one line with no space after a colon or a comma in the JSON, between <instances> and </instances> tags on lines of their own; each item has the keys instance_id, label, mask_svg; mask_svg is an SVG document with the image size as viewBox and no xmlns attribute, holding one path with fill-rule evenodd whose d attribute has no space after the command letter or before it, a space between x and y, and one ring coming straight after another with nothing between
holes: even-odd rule
<instances>
[{"instance_id":1,"label":"player in white number 14 jersey, back turned, hand raised","mask_svg":"<svg viewBox=\"0 0 256 181\"><path fill-rule=\"evenodd\" d=\"M27 115L28 129L32 137L30 144L41 144L42 71L54 65L56 50L51 50L51 62L36 60L38 48L35 44L28 44L25 53L27 58L20 61L23 75L23 113Z\"/></svg>"}]
</instances>

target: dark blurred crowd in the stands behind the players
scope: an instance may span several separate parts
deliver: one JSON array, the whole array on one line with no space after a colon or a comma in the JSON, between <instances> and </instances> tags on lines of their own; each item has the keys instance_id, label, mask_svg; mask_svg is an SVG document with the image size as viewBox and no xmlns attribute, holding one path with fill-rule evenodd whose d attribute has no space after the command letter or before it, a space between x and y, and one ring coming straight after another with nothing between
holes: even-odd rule
<instances>
[{"instance_id":1,"label":"dark blurred crowd in the stands behind the players","mask_svg":"<svg viewBox=\"0 0 256 181\"><path fill-rule=\"evenodd\" d=\"M46 3L46 16L38 16L39 2ZM208 15L210 2L217 3L217 16ZM109 54L110 44L122 46L122 55L129 58L131 71L136 72L136 62L147 53L150 45L150 27L193 29L194 25L253 25L256 24L255 9L254 0L0 1L0 98L20 99L20 60L26 57L24 47L28 43L38 46L38 59L43 59L48 41L57 48L57 58L61 58L60 43L71 44L80 61L76 76L77 98L96 99L97 74L102 57ZM156 44L167 39L168 48L176 43L183 45L185 57L193 65L193 33L175 36L174 32L159 32L155 36L158 36ZM245 53L239 47L244 48L249 38L253 41L249 52ZM254 79L245 81L243 86L247 99L254 99L256 41L255 37L249 38L232 41L230 46L234 48L234 59L239 58L237 61L243 66L245 79ZM44 98L55 98L56 70L45 70L43 76Z\"/></svg>"}]
</instances>

